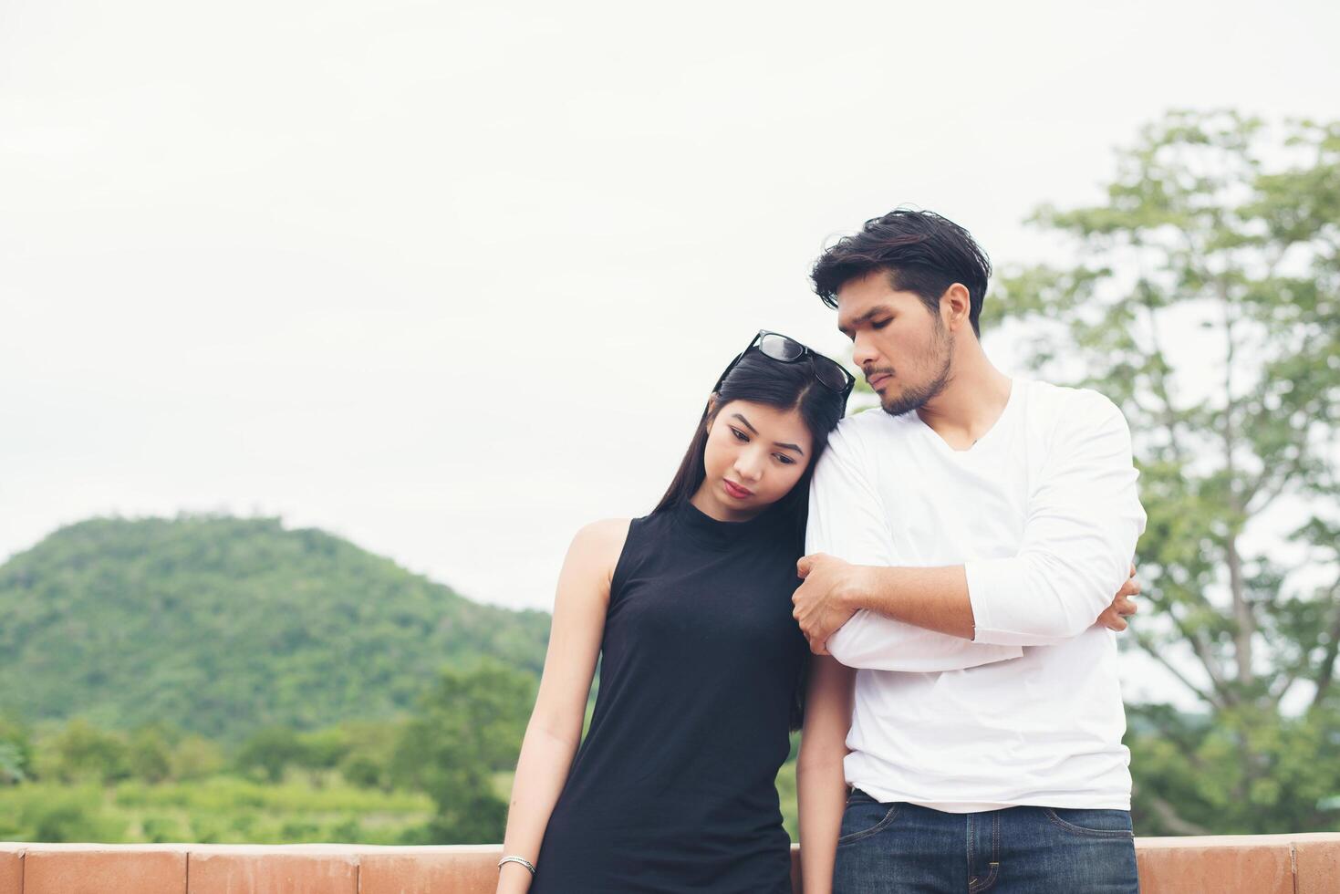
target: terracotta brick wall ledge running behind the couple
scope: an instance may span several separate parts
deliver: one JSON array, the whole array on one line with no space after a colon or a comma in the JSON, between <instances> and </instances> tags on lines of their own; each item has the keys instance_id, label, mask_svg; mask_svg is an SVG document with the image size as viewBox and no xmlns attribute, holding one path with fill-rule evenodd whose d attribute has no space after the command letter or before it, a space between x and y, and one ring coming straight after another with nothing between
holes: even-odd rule
<instances>
[{"instance_id":1,"label":"terracotta brick wall ledge running behind the couple","mask_svg":"<svg viewBox=\"0 0 1340 894\"><path fill-rule=\"evenodd\" d=\"M1340 891L1340 832L1139 838L1135 847L1143 894ZM492 894L500 854L497 844L0 842L0 894Z\"/></svg>"}]
</instances>

